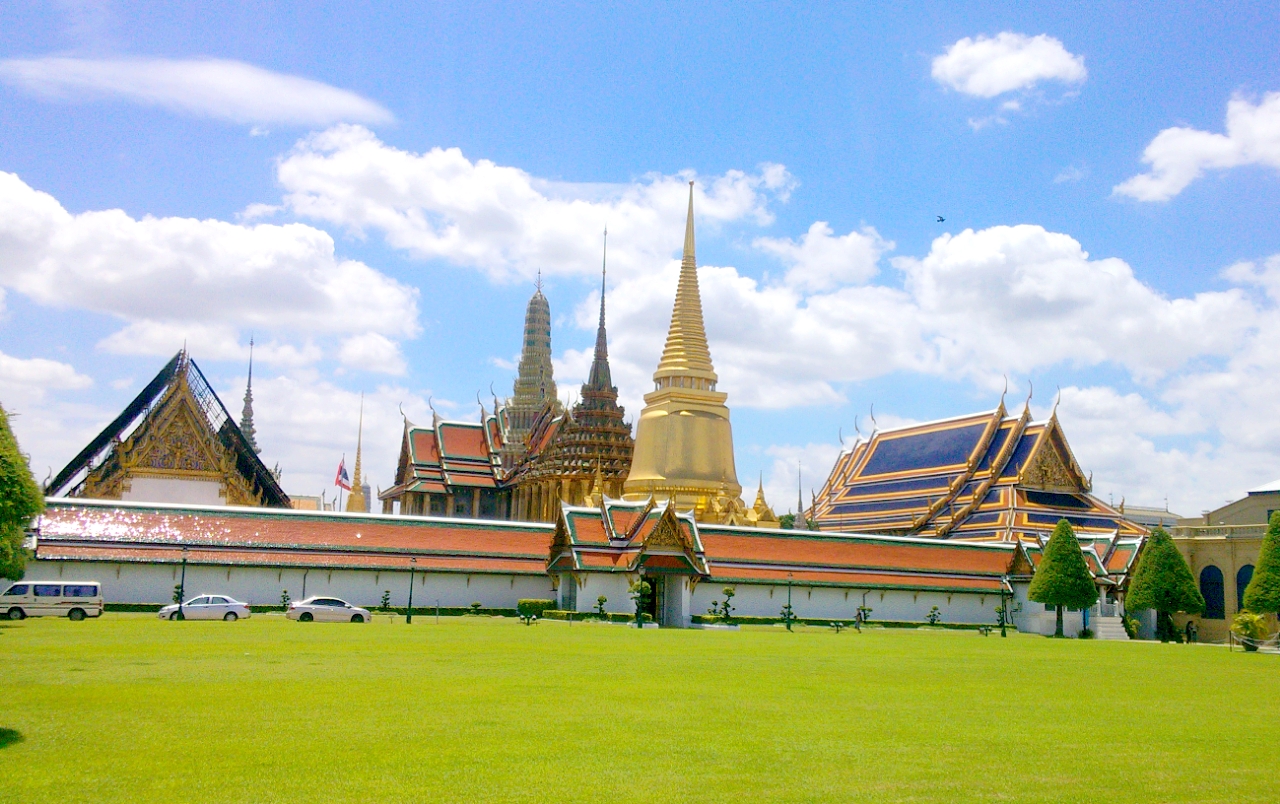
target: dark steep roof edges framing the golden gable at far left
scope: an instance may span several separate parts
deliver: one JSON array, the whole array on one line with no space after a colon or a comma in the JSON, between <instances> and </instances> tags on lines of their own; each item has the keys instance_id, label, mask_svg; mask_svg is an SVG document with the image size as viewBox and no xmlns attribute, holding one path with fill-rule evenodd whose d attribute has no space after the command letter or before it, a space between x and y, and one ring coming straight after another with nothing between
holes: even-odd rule
<instances>
[{"instance_id":1,"label":"dark steep roof edges framing the golden gable at far left","mask_svg":"<svg viewBox=\"0 0 1280 804\"><path fill-rule=\"evenodd\" d=\"M111 469L108 466L109 462L119 460L122 443L145 435L154 421L172 412L168 410L169 406L186 405L188 399L192 410L183 420L191 422L191 433L200 439L207 437L220 444L220 449L230 456L234 471L247 488L262 499L262 504L289 507L289 497L280 488L275 475L259 458L253 444L241 431L200 366L187 356L186 351L174 355L160 369L124 411L49 481L45 493L78 494L92 472L106 471ZM163 466L160 469L163 470Z\"/></svg>"}]
</instances>

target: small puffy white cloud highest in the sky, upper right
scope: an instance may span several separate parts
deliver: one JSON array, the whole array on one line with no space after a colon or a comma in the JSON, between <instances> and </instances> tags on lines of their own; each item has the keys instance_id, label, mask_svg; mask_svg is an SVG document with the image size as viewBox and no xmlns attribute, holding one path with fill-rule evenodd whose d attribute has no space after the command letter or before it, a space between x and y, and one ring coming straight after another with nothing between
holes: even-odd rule
<instances>
[{"instance_id":1,"label":"small puffy white cloud highest in the sky, upper right","mask_svg":"<svg viewBox=\"0 0 1280 804\"><path fill-rule=\"evenodd\" d=\"M993 37L966 36L951 45L933 59L932 74L957 92L996 97L1044 81L1080 83L1088 72L1084 58L1073 55L1060 40L1004 31Z\"/></svg>"}]
</instances>

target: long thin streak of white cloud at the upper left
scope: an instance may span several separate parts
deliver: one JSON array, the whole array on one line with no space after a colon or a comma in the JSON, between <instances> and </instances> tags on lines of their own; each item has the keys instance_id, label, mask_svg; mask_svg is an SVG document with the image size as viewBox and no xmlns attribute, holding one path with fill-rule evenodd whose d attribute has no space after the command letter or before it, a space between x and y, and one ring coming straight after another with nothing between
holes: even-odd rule
<instances>
[{"instance_id":1,"label":"long thin streak of white cloud at the upper left","mask_svg":"<svg viewBox=\"0 0 1280 804\"><path fill-rule=\"evenodd\" d=\"M394 120L390 111L348 90L227 59L5 59L0 81L54 100L118 97L243 124Z\"/></svg>"}]
</instances>

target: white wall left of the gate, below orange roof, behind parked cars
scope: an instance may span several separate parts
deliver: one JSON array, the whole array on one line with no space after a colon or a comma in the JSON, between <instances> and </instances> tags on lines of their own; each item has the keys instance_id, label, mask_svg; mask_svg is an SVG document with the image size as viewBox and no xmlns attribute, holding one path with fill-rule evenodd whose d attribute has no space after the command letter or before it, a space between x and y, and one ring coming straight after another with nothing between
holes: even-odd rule
<instances>
[{"instance_id":1,"label":"white wall left of the gate, below orange roof, behind parked cars","mask_svg":"<svg viewBox=\"0 0 1280 804\"><path fill-rule=\"evenodd\" d=\"M177 563L125 563L96 561L29 561L26 580L97 581L108 603L170 603L182 576ZM479 602L485 608L516 608L521 598L554 597L549 576L489 575L463 572L415 572L413 607L466 607ZM253 606L280 603L289 598L325 594L356 606L378 606L383 591L392 593L392 606L408 604L408 571L398 570L298 570L187 565L187 597L227 594ZM599 594L599 593L596 593ZM594 604L595 598L591 598ZM611 595L612 602L612 595Z\"/></svg>"}]
</instances>

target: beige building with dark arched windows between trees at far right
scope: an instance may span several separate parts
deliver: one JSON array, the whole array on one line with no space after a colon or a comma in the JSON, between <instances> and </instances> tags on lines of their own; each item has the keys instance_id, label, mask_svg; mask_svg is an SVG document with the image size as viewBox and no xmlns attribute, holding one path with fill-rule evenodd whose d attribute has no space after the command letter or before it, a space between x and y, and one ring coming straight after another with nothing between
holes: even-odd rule
<instances>
[{"instance_id":1,"label":"beige building with dark arched windows between trees at far right","mask_svg":"<svg viewBox=\"0 0 1280 804\"><path fill-rule=\"evenodd\" d=\"M1216 511L1179 520L1172 529L1174 543L1204 595L1204 613L1179 617L1178 623L1185 627L1188 620L1194 620L1201 641L1226 640L1231 618L1240 611L1244 589L1253 579L1267 520L1275 511L1280 511L1280 480L1252 489L1244 498Z\"/></svg>"}]
</instances>

